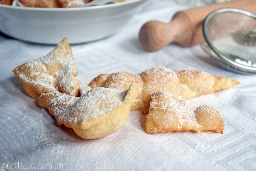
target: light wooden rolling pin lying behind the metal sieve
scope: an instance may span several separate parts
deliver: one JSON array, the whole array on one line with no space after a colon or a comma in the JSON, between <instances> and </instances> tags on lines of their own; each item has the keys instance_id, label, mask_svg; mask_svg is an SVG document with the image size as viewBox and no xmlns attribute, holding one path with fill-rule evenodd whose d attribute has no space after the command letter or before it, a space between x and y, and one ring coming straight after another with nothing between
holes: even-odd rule
<instances>
[{"instance_id":1,"label":"light wooden rolling pin lying behind the metal sieve","mask_svg":"<svg viewBox=\"0 0 256 171\"><path fill-rule=\"evenodd\" d=\"M177 12L172 21L149 21L139 32L141 45L147 51L157 51L174 42L190 47L204 42L202 23L213 11L220 8L239 8L256 13L256 0L234 0Z\"/></svg>"}]
</instances>

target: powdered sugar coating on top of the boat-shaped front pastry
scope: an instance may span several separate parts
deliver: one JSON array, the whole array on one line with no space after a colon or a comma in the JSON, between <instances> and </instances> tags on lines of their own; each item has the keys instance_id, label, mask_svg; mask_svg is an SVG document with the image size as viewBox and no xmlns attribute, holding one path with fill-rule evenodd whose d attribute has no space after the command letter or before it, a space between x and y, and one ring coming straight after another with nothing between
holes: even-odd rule
<instances>
[{"instance_id":1,"label":"powdered sugar coating on top of the boat-shaped front pastry","mask_svg":"<svg viewBox=\"0 0 256 171\"><path fill-rule=\"evenodd\" d=\"M62 94L52 99L50 105L57 120L79 122L107 114L122 104L126 94L127 90L95 87L82 97Z\"/></svg>"}]
</instances>

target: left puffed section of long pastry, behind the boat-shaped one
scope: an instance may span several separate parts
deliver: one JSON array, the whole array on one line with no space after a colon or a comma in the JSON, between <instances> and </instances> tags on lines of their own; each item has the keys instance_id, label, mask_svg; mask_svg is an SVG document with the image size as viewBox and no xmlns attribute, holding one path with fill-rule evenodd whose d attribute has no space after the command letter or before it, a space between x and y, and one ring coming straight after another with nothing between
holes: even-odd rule
<instances>
[{"instance_id":1,"label":"left puffed section of long pastry, behind the boat-shaped one","mask_svg":"<svg viewBox=\"0 0 256 171\"><path fill-rule=\"evenodd\" d=\"M128 89L131 83L135 83L139 89L138 95L131 105L131 110L140 110L143 105L141 101L143 82L137 74L124 71L115 74L101 74L94 78L89 86L92 88L100 86L106 88Z\"/></svg>"}]
</instances>

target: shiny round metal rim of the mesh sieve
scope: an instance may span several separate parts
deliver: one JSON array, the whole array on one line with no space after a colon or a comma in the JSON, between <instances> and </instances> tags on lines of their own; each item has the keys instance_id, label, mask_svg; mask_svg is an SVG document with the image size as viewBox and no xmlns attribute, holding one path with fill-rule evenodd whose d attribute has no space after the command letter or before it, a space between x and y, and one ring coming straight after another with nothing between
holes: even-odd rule
<instances>
[{"instance_id":1,"label":"shiny round metal rim of the mesh sieve","mask_svg":"<svg viewBox=\"0 0 256 171\"><path fill-rule=\"evenodd\" d=\"M223 13L223 12L233 12L233 13L240 13L243 15L246 15L248 17L252 17L256 20L256 15L252 12L246 11L246 10L241 10L241 9L237 9L237 8L222 8L222 9L218 9L215 10L213 12L211 12L203 21L203 36L205 41L207 42L208 46L214 51L214 53L216 53L223 61L225 61L227 63L227 65L232 66L233 68L237 68L239 70L242 70L243 72L247 72L247 73L256 73L256 68L255 67L250 67L250 66L245 66L239 63L236 63L234 60L229 59L228 57L226 57L224 54L222 54L212 43L211 40L209 39L209 37L207 36L207 32L208 32L208 23L210 21L210 19L214 16L217 15L219 13Z\"/></svg>"}]
</instances>

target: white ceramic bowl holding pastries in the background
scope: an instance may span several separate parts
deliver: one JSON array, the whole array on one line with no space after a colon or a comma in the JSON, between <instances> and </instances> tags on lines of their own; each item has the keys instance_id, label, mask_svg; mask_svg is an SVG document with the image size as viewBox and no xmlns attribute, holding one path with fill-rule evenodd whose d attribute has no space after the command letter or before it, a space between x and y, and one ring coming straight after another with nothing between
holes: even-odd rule
<instances>
[{"instance_id":1,"label":"white ceramic bowl holding pastries in the background","mask_svg":"<svg viewBox=\"0 0 256 171\"><path fill-rule=\"evenodd\" d=\"M0 31L34 43L90 42L118 31L145 0L80 8L29 8L0 4Z\"/></svg>"}]
</instances>

